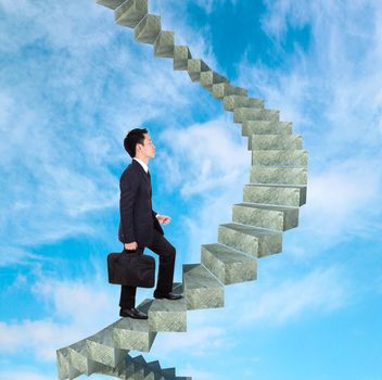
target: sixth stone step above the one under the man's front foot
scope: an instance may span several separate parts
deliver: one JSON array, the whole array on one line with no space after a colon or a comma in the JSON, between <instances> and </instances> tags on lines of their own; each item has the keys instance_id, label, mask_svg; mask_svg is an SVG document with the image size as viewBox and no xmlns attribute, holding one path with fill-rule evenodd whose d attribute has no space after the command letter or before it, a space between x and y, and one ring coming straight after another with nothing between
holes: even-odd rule
<instances>
[{"instance_id":1,"label":"sixth stone step above the one under the man's front foot","mask_svg":"<svg viewBox=\"0 0 382 380\"><path fill-rule=\"evenodd\" d=\"M252 183L306 185L307 180L307 169L301 167L252 166L250 174Z\"/></svg>"}]
</instances>

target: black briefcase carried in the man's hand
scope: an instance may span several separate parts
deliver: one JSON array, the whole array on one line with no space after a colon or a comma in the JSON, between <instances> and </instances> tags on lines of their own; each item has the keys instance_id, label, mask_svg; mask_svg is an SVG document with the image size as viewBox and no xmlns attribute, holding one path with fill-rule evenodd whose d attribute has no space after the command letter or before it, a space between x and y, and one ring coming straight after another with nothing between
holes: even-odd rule
<instances>
[{"instance_id":1,"label":"black briefcase carried in the man's hand","mask_svg":"<svg viewBox=\"0 0 382 380\"><path fill-rule=\"evenodd\" d=\"M107 255L109 282L129 287L153 288L155 259L136 251Z\"/></svg>"}]
</instances>

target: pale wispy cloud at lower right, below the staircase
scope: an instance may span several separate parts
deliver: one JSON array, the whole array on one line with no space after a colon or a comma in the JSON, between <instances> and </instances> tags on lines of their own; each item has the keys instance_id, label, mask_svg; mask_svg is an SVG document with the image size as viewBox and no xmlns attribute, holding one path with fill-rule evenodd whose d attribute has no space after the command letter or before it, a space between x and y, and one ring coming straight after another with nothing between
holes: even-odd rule
<instances>
[{"instance_id":1,"label":"pale wispy cloud at lower right, below the staircase","mask_svg":"<svg viewBox=\"0 0 382 380\"><path fill-rule=\"evenodd\" d=\"M313 315L322 316L347 305L349 284L339 267L318 268L279 284L264 278L256 286L230 293L226 313L241 305L241 326L283 326ZM230 301L233 303L230 304Z\"/></svg>"}]
</instances>

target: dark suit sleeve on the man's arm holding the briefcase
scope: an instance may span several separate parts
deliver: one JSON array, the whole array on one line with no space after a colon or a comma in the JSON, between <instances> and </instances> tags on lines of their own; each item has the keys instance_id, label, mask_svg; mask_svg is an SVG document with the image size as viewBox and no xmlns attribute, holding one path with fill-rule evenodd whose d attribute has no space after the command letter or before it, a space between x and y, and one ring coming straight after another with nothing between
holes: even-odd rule
<instances>
[{"instance_id":1,"label":"dark suit sleeve on the man's arm holding the briefcase","mask_svg":"<svg viewBox=\"0 0 382 380\"><path fill-rule=\"evenodd\" d=\"M133 235L132 210L139 188L138 177L133 172L124 174L119 180L119 213L123 239L125 243L136 241Z\"/></svg>"}]
</instances>

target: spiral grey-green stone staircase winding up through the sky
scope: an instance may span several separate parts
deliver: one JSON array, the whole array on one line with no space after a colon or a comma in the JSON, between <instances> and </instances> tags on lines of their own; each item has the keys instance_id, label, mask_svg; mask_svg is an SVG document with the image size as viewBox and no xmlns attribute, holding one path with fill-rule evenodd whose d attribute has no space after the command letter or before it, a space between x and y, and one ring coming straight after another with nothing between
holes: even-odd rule
<instances>
[{"instance_id":1,"label":"spiral grey-green stone staircase winding up through the sky","mask_svg":"<svg viewBox=\"0 0 382 380\"><path fill-rule=\"evenodd\" d=\"M250 183L243 202L232 206L232 221L218 226L216 243L201 246L201 263L183 265L182 283L174 292L180 301L144 300L138 307L148 320L120 318L103 330L58 350L59 378L94 372L133 380L191 379L147 363L129 351L149 352L158 331L186 331L187 312L224 307L225 286L256 279L257 258L282 250L282 231L297 227L298 207L306 202L308 154L292 124L279 112L232 86L187 46L174 45L174 33L162 30L161 17L148 13L148 0L98 0L114 10L117 24L133 28L135 39L154 47L154 55L174 60L174 69L187 71L242 125L252 151Z\"/></svg>"}]
</instances>

